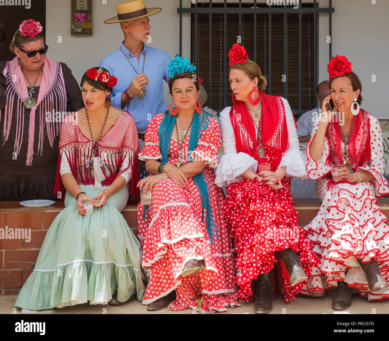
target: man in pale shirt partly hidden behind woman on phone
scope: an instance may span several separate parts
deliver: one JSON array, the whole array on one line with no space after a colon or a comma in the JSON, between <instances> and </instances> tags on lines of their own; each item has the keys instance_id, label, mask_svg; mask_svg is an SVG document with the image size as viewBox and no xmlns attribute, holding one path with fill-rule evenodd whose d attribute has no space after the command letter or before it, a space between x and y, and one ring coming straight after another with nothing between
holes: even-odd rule
<instances>
[{"instance_id":1,"label":"man in pale shirt partly hidden behind woman on phone","mask_svg":"<svg viewBox=\"0 0 389 341\"><path fill-rule=\"evenodd\" d=\"M321 115L322 100L329 95L329 81L321 82L317 86L316 98L319 101L319 107L304 112L297 121L297 136L300 143L307 143L311 139L312 129L315 121Z\"/></svg>"}]
</instances>

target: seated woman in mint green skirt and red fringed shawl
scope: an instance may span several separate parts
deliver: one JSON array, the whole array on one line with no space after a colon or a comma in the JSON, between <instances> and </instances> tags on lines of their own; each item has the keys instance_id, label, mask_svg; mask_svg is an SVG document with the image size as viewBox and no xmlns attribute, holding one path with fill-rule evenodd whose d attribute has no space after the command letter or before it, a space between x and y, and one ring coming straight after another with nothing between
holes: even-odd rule
<instances>
[{"instance_id":1,"label":"seated woman in mint green skirt and red fringed shawl","mask_svg":"<svg viewBox=\"0 0 389 341\"><path fill-rule=\"evenodd\" d=\"M139 180L139 143L132 116L110 106L116 81L105 69L88 70L81 81L85 107L62 123L55 192L66 189L66 208L16 299L22 312L143 299L140 243L120 213Z\"/></svg>"}]
</instances>

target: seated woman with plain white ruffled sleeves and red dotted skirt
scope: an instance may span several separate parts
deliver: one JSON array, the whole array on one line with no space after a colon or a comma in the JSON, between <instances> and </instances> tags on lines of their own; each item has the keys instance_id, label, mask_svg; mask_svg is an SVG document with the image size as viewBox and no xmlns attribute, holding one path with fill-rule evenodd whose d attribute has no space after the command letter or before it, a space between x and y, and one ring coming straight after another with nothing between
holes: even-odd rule
<instances>
[{"instance_id":1,"label":"seated woman with plain white ruffled sleeves and red dotted skirt","mask_svg":"<svg viewBox=\"0 0 389 341\"><path fill-rule=\"evenodd\" d=\"M235 238L238 298L254 297L254 312L265 314L276 287L293 301L318 263L290 193L290 177L307 173L287 100L261 91L266 79L243 46L234 44L229 56L234 105L220 114L224 156L216 184L230 185L224 217ZM262 163L270 171L260 172Z\"/></svg>"}]
</instances>

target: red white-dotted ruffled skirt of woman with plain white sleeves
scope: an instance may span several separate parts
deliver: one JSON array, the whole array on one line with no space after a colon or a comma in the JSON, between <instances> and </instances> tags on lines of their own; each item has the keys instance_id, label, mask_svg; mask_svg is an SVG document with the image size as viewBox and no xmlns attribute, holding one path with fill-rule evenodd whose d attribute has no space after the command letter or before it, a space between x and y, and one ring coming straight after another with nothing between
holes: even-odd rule
<instances>
[{"instance_id":1,"label":"red white-dotted ruffled skirt of woman with plain white sleeves","mask_svg":"<svg viewBox=\"0 0 389 341\"><path fill-rule=\"evenodd\" d=\"M319 261L311 251L311 243L305 240L306 232L297 225L297 212L289 190L273 190L256 178L236 181L228 187L227 194L224 216L235 238L238 297L250 301L251 281L276 267L278 283L274 274L273 297L278 286L284 301L293 301L307 281L292 287L275 251L287 248L296 251L306 274Z\"/></svg>"}]
</instances>

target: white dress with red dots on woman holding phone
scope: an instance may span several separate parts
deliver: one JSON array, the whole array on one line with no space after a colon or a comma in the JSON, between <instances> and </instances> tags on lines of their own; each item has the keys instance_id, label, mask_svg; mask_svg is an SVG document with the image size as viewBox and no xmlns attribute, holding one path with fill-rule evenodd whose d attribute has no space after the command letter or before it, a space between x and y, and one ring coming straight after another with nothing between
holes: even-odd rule
<instances>
[{"instance_id":1,"label":"white dress with red dots on woman holding phone","mask_svg":"<svg viewBox=\"0 0 389 341\"><path fill-rule=\"evenodd\" d=\"M383 177L382 133L377 118L368 114L368 119L370 162L358 169L370 172L374 176L372 181L340 183L327 190L328 178L325 176L331 173L329 141L325 137L323 154L316 162L310 155L310 144L320 123L316 123L312 131L306 150L307 170L309 178L316 180L316 192L322 206L304 229L321 263L312 268L312 276L301 294L323 296L331 287L337 286L337 281L344 280L369 301L389 298L389 290L381 294L370 292L358 262L358 258L363 262L369 262L370 258L377 260L382 276L389 283L389 227L376 198L389 194L388 183Z\"/></svg>"}]
</instances>

